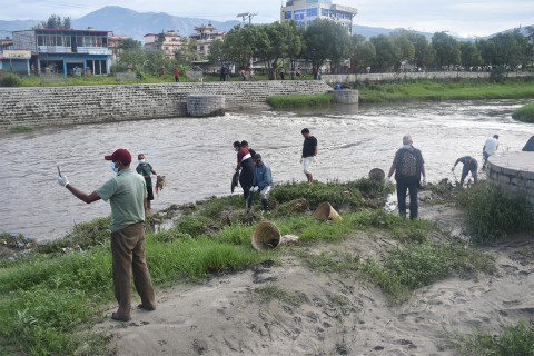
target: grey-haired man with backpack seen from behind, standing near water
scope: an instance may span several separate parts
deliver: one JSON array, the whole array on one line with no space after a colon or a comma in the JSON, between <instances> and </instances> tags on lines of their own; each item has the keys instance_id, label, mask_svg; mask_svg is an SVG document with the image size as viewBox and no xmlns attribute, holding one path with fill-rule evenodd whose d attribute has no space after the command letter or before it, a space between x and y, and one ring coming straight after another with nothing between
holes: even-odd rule
<instances>
[{"instance_id":1,"label":"grey-haired man with backpack seen from behind, standing near water","mask_svg":"<svg viewBox=\"0 0 534 356\"><path fill-rule=\"evenodd\" d=\"M413 220L418 215L417 192L421 175L423 175L423 186L426 186L426 172L423 155L413 146L409 135L403 137L403 148L395 154L386 178L386 187L389 186L389 179L394 172L397 181L398 214L406 217L406 192L409 190L409 219Z\"/></svg>"}]
</instances>

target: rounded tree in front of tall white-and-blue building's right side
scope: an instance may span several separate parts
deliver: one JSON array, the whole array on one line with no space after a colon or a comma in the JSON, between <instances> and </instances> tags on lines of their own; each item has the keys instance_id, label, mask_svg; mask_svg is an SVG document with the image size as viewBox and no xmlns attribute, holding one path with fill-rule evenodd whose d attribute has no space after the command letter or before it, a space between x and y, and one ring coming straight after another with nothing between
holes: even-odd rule
<instances>
[{"instance_id":1,"label":"rounded tree in front of tall white-and-blue building's right side","mask_svg":"<svg viewBox=\"0 0 534 356\"><path fill-rule=\"evenodd\" d=\"M347 30L330 20L317 19L312 22L304 31L304 56L312 61L314 73L327 59L337 71L342 59L350 55L350 37Z\"/></svg>"}]
</instances>

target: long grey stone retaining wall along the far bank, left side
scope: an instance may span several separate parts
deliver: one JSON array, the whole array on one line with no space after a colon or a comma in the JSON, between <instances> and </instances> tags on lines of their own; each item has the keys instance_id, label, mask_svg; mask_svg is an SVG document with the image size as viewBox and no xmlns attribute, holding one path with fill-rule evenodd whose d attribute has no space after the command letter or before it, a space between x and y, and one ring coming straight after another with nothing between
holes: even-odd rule
<instances>
[{"instance_id":1,"label":"long grey stone retaining wall along the far bank, left side","mask_svg":"<svg viewBox=\"0 0 534 356\"><path fill-rule=\"evenodd\" d=\"M326 93L320 80L0 88L0 130L187 116L188 95L222 95L226 111L269 108L266 98Z\"/></svg>"}]
</instances>

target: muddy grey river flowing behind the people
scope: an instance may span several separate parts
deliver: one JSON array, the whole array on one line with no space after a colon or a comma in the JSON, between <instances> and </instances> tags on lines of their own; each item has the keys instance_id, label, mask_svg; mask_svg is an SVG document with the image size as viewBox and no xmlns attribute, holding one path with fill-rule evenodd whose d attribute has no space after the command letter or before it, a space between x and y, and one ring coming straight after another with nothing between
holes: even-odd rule
<instances>
[{"instance_id":1,"label":"muddy grey river flowing behind the people","mask_svg":"<svg viewBox=\"0 0 534 356\"><path fill-rule=\"evenodd\" d=\"M349 180L375 167L387 172L402 136L411 132L426 161L428 181L453 178L463 155L482 159L487 137L498 134L500 150L521 150L532 125L511 118L526 100L337 106L318 111L231 113L209 119L175 118L80 125L0 134L6 160L0 178L0 231L37 239L65 235L75 224L107 216L109 204L86 205L56 182L59 165L72 186L90 194L112 177L103 156L127 148L144 152L167 186L152 209L230 194L236 165L231 142L246 139L271 167L275 181L303 181L298 164L308 127L319 142L314 178ZM459 174L459 169L457 169ZM240 192L240 188L238 188Z\"/></svg>"}]
</instances>

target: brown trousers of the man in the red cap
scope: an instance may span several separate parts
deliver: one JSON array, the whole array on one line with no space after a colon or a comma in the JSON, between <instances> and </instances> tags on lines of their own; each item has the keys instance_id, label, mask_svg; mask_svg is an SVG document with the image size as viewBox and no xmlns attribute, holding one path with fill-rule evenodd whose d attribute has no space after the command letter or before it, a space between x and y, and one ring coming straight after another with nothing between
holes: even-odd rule
<instances>
[{"instance_id":1,"label":"brown trousers of the man in the red cap","mask_svg":"<svg viewBox=\"0 0 534 356\"><path fill-rule=\"evenodd\" d=\"M145 227L134 224L111 233L115 297L119 317L129 318L131 309L131 273L134 284L146 308L156 308L156 296L145 260Z\"/></svg>"}]
</instances>

